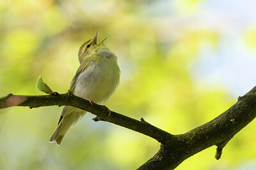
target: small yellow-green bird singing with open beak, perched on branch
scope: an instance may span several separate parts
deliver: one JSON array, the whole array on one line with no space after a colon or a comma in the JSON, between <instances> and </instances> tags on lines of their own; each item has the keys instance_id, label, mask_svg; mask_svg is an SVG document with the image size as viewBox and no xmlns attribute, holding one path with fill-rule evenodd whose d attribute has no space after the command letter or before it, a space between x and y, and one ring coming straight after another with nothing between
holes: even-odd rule
<instances>
[{"instance_id":1,"label":"small yellow-green bird singing with open beak, perched on branch","mask_svg":"<svg viewBox=\"0 0 256 170\"><path fill-rule=\"evenodd\" d=\"M94 103L103 104L118 86L120 69L115 53L103 43L106 38L97 44L97 33L93 39L86 41L79 49L80 66L71 81L70 92ZM58 126L49 142L56 142L60 146L71 125L76 124L85 113L84 110L64 106Z\"/></svg>"}]
</instances>

